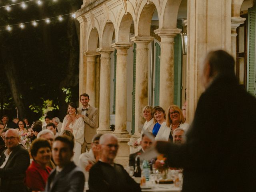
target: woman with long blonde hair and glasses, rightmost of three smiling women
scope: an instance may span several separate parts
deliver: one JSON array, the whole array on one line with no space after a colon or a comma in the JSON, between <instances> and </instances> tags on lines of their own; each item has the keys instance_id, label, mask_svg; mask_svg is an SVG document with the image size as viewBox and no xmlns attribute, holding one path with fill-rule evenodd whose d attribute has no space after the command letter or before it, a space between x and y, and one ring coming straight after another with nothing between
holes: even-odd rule
<instances>
[{"instance_id":1,"label":"woman with long blonde hair and glasses, rightmost of three smiling women","mask_svg":"<svg viewBox=\"0 0 256 192\"><path fill-rule=\"evenodd\" d=\"M172 140L172 134L176 128L181 128L186 132L189 126L187 123L185 123L185 118L182 114L182 111L176 105L171 105L168 108L166 125L170 127L170 130L171 130L171 133L169 136L170 140Z\"/></svg>"}]
</instances>

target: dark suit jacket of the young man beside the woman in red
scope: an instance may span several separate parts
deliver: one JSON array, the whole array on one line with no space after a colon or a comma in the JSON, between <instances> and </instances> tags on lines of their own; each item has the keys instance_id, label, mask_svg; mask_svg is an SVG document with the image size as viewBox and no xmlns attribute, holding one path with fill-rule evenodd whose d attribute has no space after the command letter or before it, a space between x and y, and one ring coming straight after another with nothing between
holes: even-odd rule
<instances>
[{"instance_id":1,"label":"dark suit jacket of the young man beside the woman in red","mask_svg":"<svg viewBox=\"0 0 256 192\"><path fill-rule=\"evenodd\" d=\"M70 162L56 176L56 169L52 170L48 177L45 192L83 192L84 173L82 170ZM51 186L52 183L52 186Z\"/></svg>"}]
</instances>

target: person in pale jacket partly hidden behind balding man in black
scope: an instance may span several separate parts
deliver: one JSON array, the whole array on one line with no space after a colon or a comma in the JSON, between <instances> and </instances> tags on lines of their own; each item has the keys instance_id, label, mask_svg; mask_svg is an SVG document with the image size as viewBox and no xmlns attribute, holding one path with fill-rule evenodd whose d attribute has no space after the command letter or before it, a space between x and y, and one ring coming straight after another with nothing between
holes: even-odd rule
<instances>
[{"instance_id":1,"label":"person in pale jacket partly hidden behind balding man in black","mask_svg":"<svg viewBox=\"0 0 256 192\"><path fill-rule=\"evenodd\" d=\"M92 138L92 148L89 152L82 153L79 157L78 166L83 170L85 181L88 181L90 168L100 158L100 152L98 148L99 140L102 134L96 134Z\"/></svg>"}]
</instances>

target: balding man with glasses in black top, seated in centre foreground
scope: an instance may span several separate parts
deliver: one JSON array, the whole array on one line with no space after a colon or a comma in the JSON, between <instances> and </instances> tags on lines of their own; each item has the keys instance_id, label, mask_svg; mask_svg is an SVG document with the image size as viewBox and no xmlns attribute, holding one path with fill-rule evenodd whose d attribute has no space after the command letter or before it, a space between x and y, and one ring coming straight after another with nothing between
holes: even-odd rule
<instances>
[{"instance_id":1,"label":"balding man with glasses in black top, seated in centre foreground","mask_svg":"<svg viewBox=\"0 0 256 192\"><path fill-rule=\"evenodd\" d=\"M137 184L120 164L114 163L118 140L114 134L100 137L101 158L90 169L88 192L138 192Z\"/></svg>"}]
</instances>

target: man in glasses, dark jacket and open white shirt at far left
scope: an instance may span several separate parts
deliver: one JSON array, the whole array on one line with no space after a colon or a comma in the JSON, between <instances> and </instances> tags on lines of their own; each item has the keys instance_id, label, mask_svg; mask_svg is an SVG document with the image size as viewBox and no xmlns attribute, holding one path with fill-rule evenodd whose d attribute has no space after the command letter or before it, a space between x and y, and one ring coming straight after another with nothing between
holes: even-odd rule
<instances>
[{"instance_id":1,"label":"man in glasses, dark jacket and open white shirt at far left","mask_svg":"<svg viewBox=\"0 0 256 192\"><path fill-rule=\"evenodd\" d=\"M19 145L17 130L9 129L4 136L7 149L0 158L1 192L26 192L24 179L30 164L28 151Z\"/></svg>"}]
</instances>

